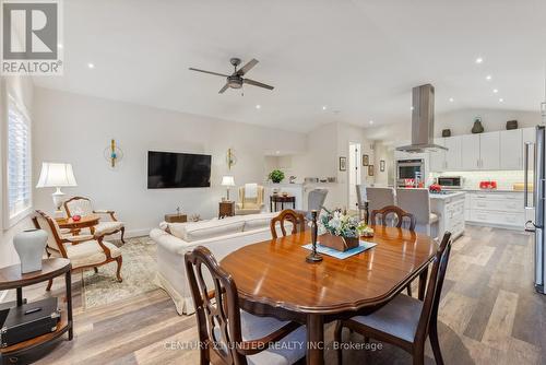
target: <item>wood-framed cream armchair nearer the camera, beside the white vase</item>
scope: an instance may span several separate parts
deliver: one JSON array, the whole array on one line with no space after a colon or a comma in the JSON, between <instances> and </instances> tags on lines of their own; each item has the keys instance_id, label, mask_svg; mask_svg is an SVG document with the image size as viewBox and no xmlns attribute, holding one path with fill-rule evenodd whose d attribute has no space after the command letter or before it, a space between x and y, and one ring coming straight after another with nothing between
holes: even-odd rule
<instances>
[{"instance_id":1,"label":"wood-framed cream armchair nearer the camera, beside the white vase","mask_svg":"<svg viewBox=\"0 0 546 365\"><path fill-rule=\"evenodd\" d=\"M61 233L57 222L40 210L33 217L34 225L38 229L47 232L46 252L48 257L62 257L70 260L72 271L93 268L114 262L118 263L116 276L121 282L121 250L114 244L104 240L100 235L68 236ZM49 281L47 290L51 289L52 280Z\"/></svg>"}]
</instances>

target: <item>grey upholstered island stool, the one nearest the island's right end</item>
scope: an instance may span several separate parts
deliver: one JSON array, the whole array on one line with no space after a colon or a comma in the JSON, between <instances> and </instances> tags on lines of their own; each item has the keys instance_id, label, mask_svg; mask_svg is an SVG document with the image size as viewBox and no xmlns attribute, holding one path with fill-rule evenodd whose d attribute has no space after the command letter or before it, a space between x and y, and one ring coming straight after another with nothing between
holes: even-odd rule
<instances>
[{"instance_id":1,"label":"grey upholstered island stool, the one nearest the island's right end","mask_svg":"<svg viewBox=\"0 0 546 365\"><path fill-rule=\"evenodd\" d=\"M396 189L396 205L411 212L416 220L415 231L438 237L438 214L430 211L428 189Z\"/></svg>"}]
</instances>

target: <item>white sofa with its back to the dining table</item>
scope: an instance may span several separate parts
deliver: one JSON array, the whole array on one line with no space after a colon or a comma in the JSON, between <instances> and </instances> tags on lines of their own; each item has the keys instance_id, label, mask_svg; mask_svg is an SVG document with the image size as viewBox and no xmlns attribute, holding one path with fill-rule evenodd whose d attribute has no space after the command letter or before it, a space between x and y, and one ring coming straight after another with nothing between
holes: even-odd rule
<instances>
[{"instance_id":1,"label":"white sofa with its back to the dining table","mask_svg":"<svg viewBox=\"0 0 546 365\"><path fill-rule=\"evenodd\" d=\"M276 214L249 214L190 223L163 222L159 228L150 232L150 237L157 243L156 284L170 295L178 314L195 311L183 255L204 246L221 261L244 246L271 239L270 222ZM278 235L282 235L281 232Z\"/></svg>"}]
</instances>

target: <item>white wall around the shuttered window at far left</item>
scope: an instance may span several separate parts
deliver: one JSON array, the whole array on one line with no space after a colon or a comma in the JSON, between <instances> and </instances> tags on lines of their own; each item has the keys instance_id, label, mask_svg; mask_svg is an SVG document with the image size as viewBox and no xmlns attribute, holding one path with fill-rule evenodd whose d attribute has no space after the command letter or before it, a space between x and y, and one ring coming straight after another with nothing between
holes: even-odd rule
<instances>
[{"instance_id":1,"label":"white wall around the shuttered window at far left","mask_svg":"<svg viewBox=\"0 0 546 365\"><path fill-rule=\"evenodd\" d=\"M31 119L34 119L33 113L33 81L29 76L2 76L0 78L0 122L2 126L8 123L7 115L7 97L8 94L16 97L21 103L23 103L31 114ZM5 130L1 128L0 130ZM1 134L1 133L0 133ZM5 153L5 139L3 136L0 139L0 161L3 160L3 154ZM0 168L0 191L2 191L3 181L3 170ZM0 195L1 197L1 195ZM2 204L0 203L0 207ZM2 210L0 209L0 222L2 222ZM13 249L13 236L24 229L33 227L32 221L27 217L19 222L12 227L2 227L0 229L0 267L5 267L19 262L19 257Z\"/></svg>"}]
</instances>

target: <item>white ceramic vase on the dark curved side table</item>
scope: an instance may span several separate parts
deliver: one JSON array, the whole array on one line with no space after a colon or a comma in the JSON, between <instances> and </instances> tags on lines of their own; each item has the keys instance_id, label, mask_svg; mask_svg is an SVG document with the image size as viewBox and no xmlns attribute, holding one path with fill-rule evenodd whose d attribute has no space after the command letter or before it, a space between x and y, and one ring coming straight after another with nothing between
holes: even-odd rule
<instances>
[{"instance_id":1,"label":"white ceramic vase on the dark curved side table","mask_svg":"<svg viewBox=\"0 0 546 365\"><path fill-rule=\"evenodd\" d=\"M21 260L22 273L41 270L46 244L47 233L44 229L23 231L13 237L13 246Z\"/></svg>"}]
</instances>

